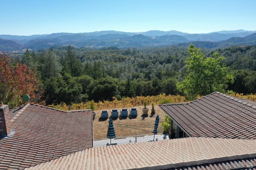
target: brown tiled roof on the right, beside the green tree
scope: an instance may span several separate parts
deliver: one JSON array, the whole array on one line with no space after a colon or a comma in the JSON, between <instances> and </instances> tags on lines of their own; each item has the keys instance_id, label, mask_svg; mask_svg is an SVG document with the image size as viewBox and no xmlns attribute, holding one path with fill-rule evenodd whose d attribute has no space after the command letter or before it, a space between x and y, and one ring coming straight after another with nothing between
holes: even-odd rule
<instances>
[{"instance_id":1,"label":"brown tiled roof on the right, beside the green tree","mask_svg":"<svg viewBox=\"0 0 256 170\"><path fill-rule=\"evenodd\" d=\"M214 92L159 107L191 137L256 139L256 103L249 100Z\"/></svg>"}]
</instances>

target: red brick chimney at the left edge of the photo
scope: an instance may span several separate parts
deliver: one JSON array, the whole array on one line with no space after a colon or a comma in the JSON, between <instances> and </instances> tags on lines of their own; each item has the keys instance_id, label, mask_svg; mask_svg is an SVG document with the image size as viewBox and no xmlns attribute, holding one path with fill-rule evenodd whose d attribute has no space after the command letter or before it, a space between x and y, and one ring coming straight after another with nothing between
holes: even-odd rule
<instances>
[{"instance_id":1,"label":"red brick chimney at the left edge of the photo","mask_svg":"<svg viewBox=\"0 0 256 170\"><path fill-rule=\"evenodd\" d=\"M11 131L9 106L0 103L0 135L8 136Z\"/></svg>"}]
</instances>

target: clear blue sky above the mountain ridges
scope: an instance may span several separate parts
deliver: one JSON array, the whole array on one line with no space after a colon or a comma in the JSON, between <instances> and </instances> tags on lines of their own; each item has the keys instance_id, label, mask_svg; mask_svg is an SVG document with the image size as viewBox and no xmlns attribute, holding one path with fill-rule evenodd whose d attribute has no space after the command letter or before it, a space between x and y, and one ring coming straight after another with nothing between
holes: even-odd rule
<instances>
[{"instance_id":1,"label":"clear blue sky above the mountain ridges","mask_svg":"<svg viewBox=\"0 0 256 170\"><path fill-rule=\"evenodd\" d=\"M0 35L256 30L256 0L2 0Z\"/></svg>"}]
</instances>

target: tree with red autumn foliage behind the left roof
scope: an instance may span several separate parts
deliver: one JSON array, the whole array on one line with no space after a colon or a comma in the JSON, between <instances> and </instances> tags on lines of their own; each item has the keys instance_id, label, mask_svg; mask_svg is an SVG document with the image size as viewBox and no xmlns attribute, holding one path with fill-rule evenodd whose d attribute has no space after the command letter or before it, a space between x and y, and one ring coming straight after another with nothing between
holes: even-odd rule
<instances>
[{"instance_id":1,"label":"tree with red autumn foliage behind the left roof","mask_svg":"<svg viewBox=\"0 0 256 170\"><path fill-rule=\"evenodd\" d=\"M35 100L39 87L36 76L36 69L28 69L26 64L13 63L10 54L3 51L0 55L0 102L12 108L24 103L24 94Z\"/></svg>"}]
</instances>

